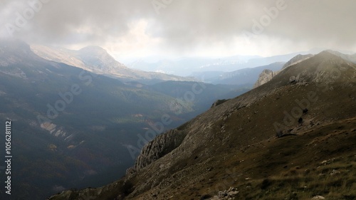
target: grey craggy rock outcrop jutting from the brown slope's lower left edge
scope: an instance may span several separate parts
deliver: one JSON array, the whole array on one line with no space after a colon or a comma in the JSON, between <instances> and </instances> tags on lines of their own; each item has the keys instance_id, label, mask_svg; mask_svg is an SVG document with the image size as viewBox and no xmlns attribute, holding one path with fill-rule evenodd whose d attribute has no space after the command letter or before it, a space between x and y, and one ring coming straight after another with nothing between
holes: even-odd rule
<instances>
[{"instance_id":1,"label":"grey craggy rock outcrop jutting from the brown slope's lower left edge","mask_svg":"<svg viewBox=\"0 0 356 200\"><path fill-rule=\"evenodd\" d=\"M140 155L137 157L134 167L127 169L127 175L134 174L140 169L148 166L157 159L172 152L172 150L182 144L186 134L177 129L169 130L164 134L157 136L142 148Z\"/></svg>"}]
</instances>

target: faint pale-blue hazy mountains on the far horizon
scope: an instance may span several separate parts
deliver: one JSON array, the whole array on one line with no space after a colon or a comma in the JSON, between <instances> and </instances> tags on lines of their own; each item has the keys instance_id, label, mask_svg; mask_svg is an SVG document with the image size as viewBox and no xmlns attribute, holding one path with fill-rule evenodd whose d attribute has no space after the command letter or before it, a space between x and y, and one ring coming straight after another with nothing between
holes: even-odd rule
<instances>
[{"instance_id":1,"label":"faint pale-blue hazy mountains on the far horizon","mask_svg":"<svg viewBox=\"0 0 356 200\"><path fill-rule=\"evenodd\" d=\"M177 58L177 59L161 59L151 60L150 58L141 58L135 61L126 61L125 63L130 68L137 68L147 71L156 71L181 76L194 76L198 74L197 78L201 80L201 74L207 73L211 78L211 75L216 74L216 78L219 78L221 73L229 73L236 70L245 68L256 68L258 66L266 66L271 63L281 63L291 60L298 55L306 54L318 54L324 51L325 48L313 48L310 51L301 51L294 53L287 53L277 56L229 56L222 58L204 58L204 57L192 57L192 58ZM350 54L348 51L338 51L341 54ZM344 54L344 55L345 55ZM352 54L352 53L351 53Z\"/></svg>"}]
</instances>

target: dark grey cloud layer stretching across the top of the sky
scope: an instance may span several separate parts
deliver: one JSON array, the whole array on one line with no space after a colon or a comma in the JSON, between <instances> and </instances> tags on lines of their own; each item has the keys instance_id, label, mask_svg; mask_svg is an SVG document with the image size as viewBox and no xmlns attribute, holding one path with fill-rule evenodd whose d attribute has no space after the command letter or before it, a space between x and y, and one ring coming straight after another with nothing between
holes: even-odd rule
<instances>
[{"instance_id":1,"label":"dark grey cloud layer stretching across the top of the sky","mask_svg":"<svg viewBox=\"0 0 356 200\"><path fill-rule=\"evenodd\" d=\"M23 27L16 26L18 14L23 16L23 12L31 8L29 2L35 1L43 2L41 9L35 11ZM124 36L130 32L130 23L143 19L147 21L145 33L159 38L160 48L176 52L197 46L206 48L214 43L236 46L239 44L234 43L234 38L246 38L244 33L252 33L248 36L252 42L258 38L263 39L263 43L288 41L288 48L304 45L351 49L356 46L356 2L353 0L41 1L1 1L1 36L9 36L11 24L17 28L14 36L28 42L100 44ZM283 4L284 9L278 9L276 16L266 20L266 9L273 10L278 4ZM261 22L263 17L265 21ZM263 31L253 32L257 26Z\"/></svg>"}]
</instances>

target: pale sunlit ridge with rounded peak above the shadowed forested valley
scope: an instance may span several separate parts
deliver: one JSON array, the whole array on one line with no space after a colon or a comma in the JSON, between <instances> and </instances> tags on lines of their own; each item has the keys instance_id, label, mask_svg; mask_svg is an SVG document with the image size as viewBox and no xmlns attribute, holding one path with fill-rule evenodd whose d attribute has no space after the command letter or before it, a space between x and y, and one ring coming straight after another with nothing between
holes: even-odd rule
<instances>
[{"instance_id":1,"label":"pale sunlit ridge with rounded peak above the shadowed forested valley","mask_svg":"<svg viewBox=\"0 0 356 200\"><path fill-rule=\"evenodd\" d=\"M158 83L166 80L194 81L193 78L127 68L99 46L87 46L78 51L35 45L31 46L31 49L38 56L47 60L74 65L93 73L119 78L122 81L140 81L142 83Z\"/></svg>"}]
</instances>

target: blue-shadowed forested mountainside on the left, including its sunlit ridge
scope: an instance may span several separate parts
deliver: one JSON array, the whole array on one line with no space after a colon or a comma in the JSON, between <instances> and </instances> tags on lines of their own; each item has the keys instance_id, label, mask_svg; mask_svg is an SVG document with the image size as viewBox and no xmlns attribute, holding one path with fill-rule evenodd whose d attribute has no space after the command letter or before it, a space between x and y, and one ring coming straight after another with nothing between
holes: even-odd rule
<instances>
[{"instance_id":1,"label":"blue-shadowed forested mountainside on the left, including its sunlit ridge","mask_svg":"<svg viewBox=\"0 0 356 200\"><path fill-rule=\"evenodd\" d=\"M48 58L0 41L0 119L13 124L13 190L21 191L12 199L115 181L155 135L249 90L136 73L102 48L71 53Z\"/></svg>"}]
</instances>

